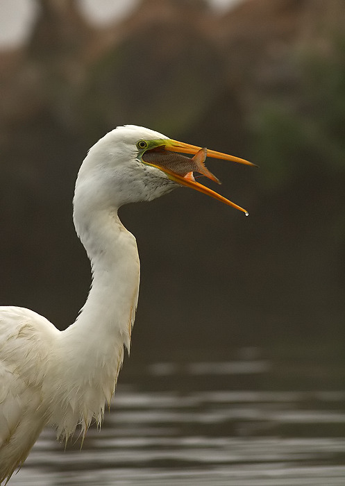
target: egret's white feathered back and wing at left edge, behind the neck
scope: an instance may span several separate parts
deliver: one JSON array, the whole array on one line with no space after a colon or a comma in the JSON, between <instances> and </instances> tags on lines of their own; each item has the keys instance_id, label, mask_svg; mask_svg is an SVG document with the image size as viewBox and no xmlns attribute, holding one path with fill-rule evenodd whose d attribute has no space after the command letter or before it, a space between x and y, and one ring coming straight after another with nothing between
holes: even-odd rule
<instances>
[{"instance_id":1,"label":"egret's white feathered back and wing at left edge, behind the neck","mask_svg":"<svg viewBox=\"0 0 345 486\"><path fill-rule=\"evenodd\" d=\"M0 483L24 462L49 419L43 383L58 333L32 310L0 306Z\"/></svg>"}]
</instances>

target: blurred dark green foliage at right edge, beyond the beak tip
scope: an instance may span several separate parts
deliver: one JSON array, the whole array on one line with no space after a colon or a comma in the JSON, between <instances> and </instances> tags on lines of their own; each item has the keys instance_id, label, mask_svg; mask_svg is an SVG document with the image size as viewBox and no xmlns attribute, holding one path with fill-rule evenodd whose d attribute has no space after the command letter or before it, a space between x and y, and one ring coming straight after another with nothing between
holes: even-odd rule
<instances>
[{"instance_id":1,"label":"blurred dark green foliage at right edge, beyond the beak tip","mask_svg":"<svg viewBox=\"0 0 345 486\"><path fill-rule=\"evenodd\" d=\"M334 48L295 55L294 85L256 107L253 153L265 161L263 183L272 189L308 171L345 176L345 36Z\"/></svg>"}]
</instances>

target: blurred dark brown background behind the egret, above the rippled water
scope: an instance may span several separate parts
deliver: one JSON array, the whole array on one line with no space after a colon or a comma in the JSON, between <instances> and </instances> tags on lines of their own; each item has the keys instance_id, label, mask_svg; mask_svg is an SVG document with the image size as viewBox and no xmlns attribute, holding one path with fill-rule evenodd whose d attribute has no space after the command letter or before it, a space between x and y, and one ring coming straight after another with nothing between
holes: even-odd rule
<instances>
[{"instance_id":1,"label":"blurred dark brown background behind the egret, above the rippled water","mask_svg":"<svg viewBox=\"0 0 345 486\"><path fill-rule=\"evenodd\" d=\"M342 360L345 3L144 0L95 28L41 1L28 42L0 53L0 302L58 328L90 266L74 233L78 168L122 124L247 158L208 160L244 217L181 188L121 208L142 280L133 355L260 346ZM192 353L192 351L190 351Z\"/></svg>"}]
</instances>

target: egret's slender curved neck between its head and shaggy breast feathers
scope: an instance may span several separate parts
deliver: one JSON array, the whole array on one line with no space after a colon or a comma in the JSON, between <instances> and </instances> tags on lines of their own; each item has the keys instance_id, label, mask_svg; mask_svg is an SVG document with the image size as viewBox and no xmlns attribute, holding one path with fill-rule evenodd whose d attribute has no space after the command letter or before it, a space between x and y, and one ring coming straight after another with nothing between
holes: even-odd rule
<instances>
[{"instance_id":1,"label":"egret's slender curved neck between its head and shaggy breast feathers","mask_svg":"<svg viewBox=\"0 0 345 486\"><path fill-rule=\"evenodd\" d=\"M90 258L92 285L71 333L100 342L109 339L129 349L140 280L135 237L121 224L117 211L98 212L78 233Z\"/></svg>"}]
</instances>

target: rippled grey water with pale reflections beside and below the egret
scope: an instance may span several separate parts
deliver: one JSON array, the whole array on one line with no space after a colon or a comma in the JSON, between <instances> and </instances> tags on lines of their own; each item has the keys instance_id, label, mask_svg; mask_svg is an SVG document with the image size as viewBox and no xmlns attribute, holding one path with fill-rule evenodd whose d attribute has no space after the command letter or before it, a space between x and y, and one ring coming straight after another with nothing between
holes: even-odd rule
<instances>
[{"instance_id":1,"label":"rippled grey water with pale reflections beside and below the egret","mask_svg":"<svg viewBox=\"0 0 345 486\"><path fill-rule=\"evenodd\" d=\"M101 432L65 452L44 430L10 484L344 486L345 391L315 370L253 357L122 371Z\"/></svg>"}]
</instances>

